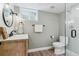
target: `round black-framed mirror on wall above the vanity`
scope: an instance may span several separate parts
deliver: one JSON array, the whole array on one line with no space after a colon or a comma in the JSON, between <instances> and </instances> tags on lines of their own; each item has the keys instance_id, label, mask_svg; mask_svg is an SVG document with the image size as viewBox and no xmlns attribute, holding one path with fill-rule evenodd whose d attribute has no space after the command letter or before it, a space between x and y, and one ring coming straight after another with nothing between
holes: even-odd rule
<instances>
[{"instance_id":1,"label":"round black-framed mirror on wall above the vanity","mask_svg":"<svg viewBox=\"0 0 79 59\"><path fill-rule=\"evenodd\" d=\"M12 10L9 8L9 5L6 4L4 6L2 16L3 16L5 25L7 27L11 27L13 24L13 13L12 13Z\"/></svg>"}]
</instances>

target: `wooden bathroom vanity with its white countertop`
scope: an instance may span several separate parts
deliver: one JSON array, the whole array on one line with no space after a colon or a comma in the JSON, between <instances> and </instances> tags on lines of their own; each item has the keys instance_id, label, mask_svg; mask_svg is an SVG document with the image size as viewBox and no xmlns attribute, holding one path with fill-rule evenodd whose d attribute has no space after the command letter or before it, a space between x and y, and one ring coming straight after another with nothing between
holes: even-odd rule
<instances>
[{"instance_id":1,"label":"wooden bathroom vanity with its white countertop","mask_svg":"<svg viewBox=\"0 0 79 59\"><path fill-rule=\"evenodd\" d=\"M27 56L28 34L14 35L0 40L0 56Z\"/></svg>"}]
</instances>

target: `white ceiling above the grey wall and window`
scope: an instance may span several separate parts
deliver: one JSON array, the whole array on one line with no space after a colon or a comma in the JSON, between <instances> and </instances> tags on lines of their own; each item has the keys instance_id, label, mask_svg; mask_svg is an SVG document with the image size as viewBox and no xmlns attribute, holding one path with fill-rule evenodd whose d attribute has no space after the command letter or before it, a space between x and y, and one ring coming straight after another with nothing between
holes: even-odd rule
<instances>
[{"instance_id":1,"label":"white ceiling above the grey wall and window","mask_svg":"<svg viewBox=\"0 0 79 59\"><path fill-rule=\"evenodd\" d=\"M17 5L22 8L30 8L51 13L61 13L65 11L64 3L15 3L13 5Z\"/></svg>"}]
</instances>

